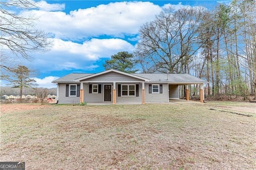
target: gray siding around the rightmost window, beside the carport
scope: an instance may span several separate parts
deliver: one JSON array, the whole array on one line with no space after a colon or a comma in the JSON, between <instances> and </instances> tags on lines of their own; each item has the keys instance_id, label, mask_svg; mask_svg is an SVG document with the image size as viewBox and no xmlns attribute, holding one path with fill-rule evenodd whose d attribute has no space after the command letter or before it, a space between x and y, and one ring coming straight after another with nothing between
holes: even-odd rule
<instances>
[{"instance_id":1,"label":"gray siding around the rightmost window, beside the carport","mask_svg":"<svg viewBox=\"0 0 256 170\"><path fill-rule=\"evenodd\" d=\"M163 93L148 93L149 84L162 84ZM145 83L145 102L169 102L168 99L168 84L167 83Z\"/></svg>"}]
</instances>

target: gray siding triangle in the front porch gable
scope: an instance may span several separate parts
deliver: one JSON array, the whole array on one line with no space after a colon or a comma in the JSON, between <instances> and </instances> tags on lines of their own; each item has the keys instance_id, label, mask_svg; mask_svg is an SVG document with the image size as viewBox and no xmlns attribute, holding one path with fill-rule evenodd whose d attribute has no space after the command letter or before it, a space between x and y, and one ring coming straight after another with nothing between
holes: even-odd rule
<instances>
[{"instance_id":1,"label":"gray siding triangle in the front porch gable","mask_svg":"<svg viewBox=\"0 0 256 170\"><path fill-rule=\"evenodd\" d=\"M122 75L120 73L110 72L102 75L98 75L96 77L92 77L89 79L84 79L82 81L110 81L110 82L118 82L118 81L142 81L141 79L136 79L134 77L130 77L127 75Z\"/></svg>"}]
</instances>

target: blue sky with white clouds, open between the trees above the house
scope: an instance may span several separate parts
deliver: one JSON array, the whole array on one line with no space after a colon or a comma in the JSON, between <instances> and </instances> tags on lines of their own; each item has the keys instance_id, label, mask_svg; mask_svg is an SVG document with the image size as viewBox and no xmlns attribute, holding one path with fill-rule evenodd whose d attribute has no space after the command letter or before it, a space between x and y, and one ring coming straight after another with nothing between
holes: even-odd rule
<instances>
[{"instance_id":1,"label":"blue sky with white clouds, open between the trees above the house","mask_svg":"<svg viewBox=\"0 0 256 170\"><path fill-rule=\"evenodd\" d=\"M37 70L40 87L56 87L54 79L69 73L97 73L119 51L132 52L138 30L154 20L162 8L172 5L213 8L218 1L36 1L40 8L22 12L38 18L36 27L51 35L53 46L46 53L33 53L23 65Z\"/></svg>"}]
</instances>

